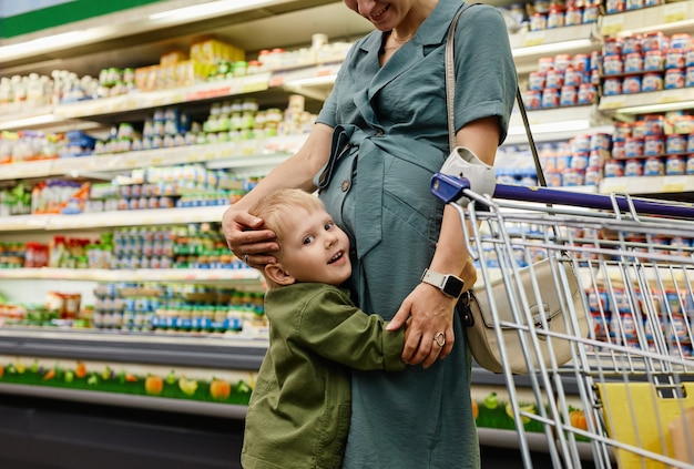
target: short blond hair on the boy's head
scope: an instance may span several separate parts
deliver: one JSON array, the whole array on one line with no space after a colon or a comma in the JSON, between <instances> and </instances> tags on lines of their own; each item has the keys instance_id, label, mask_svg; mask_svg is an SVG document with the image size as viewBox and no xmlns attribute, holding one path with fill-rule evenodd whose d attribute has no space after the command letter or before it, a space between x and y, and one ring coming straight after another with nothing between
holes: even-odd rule
<instances>
[{"instance_id":1,"label":"short blond hair on the boy's head","mask_svg":"<svg viewBox=\"0 0 694 469\"><path fill-rule=\"evenodd\" d=\"M297 216L297 208L310 213L325 211L325 205L320 198L300 188L280 188L256 202L248 213L263 218L263 227L275 232L282 249L282 238L286 234L285 221L288 216Z\"/></svg>"}]
</instances>

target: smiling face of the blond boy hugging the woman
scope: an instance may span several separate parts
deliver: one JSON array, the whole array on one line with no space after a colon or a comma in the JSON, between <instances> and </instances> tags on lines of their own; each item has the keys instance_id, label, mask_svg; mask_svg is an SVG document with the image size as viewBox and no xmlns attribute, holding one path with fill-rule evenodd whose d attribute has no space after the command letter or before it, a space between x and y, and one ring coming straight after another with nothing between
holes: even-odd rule
<instances>
[{"instance_id":1,"label":"smiling face of the blond boy hugging the woman","mask_svg":"<svg viewBox=\"0 0 694 469\"><path fill-rule=\"evenodd\" d=\"M340 285L351 275L349 239L324 210L287 221L278 261L295 282Z\"/></svg>"}]
</instances>

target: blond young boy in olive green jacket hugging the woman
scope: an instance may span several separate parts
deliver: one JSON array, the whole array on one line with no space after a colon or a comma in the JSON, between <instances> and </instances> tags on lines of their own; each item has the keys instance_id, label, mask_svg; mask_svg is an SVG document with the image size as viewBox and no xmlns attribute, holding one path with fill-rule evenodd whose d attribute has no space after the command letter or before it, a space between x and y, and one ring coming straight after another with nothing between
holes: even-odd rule
<instances>
[{"instance_id":1,"label":"blond young boy in olive green jacket hugging the woman","mask_svg":"<svg viewBox=\"0 0 694 469\"><path fill-rule=\"evenodd\" d=\"M275 232L279 252L263 271L269 348L248 405L242 465L339 468L350 368L404 369L404 329L386 330L339 287L351 275L349 239L318 197L280 190L248 212Z\"/></svg>"}]
</instances>

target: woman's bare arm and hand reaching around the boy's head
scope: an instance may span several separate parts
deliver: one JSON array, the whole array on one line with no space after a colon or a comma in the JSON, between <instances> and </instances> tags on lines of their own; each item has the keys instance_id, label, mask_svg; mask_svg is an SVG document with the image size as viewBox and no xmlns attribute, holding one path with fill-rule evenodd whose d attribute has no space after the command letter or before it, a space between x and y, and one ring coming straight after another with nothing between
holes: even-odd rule
<instances>
[{"instance_id":1,"label":"woman's bare arm and hand reaching around the boy's head","mask_svg":"<svg viewBox=\"0 0 694 469\"><path fill-rule=\"evenodd\" d=\"M272 253L278 249L275 233L258 230L263 221L248 214L248 208L267 194L287 187L313 192L314 176L328 161L333 129L317 123L296 154L275 167L249 193L229 206L222 217L224 237L232 252L241 257L248 255L247 263L258 266L276 259Z\"/></svg>"}]
</instances>

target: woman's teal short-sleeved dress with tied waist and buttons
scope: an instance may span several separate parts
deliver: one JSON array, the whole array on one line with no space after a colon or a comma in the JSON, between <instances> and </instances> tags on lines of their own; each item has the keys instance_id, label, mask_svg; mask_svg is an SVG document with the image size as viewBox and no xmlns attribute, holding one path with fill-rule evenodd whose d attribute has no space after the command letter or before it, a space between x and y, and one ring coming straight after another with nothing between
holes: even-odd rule
<instances>
[{"instance_id":1,"label":"woman's teal short-sleeved dress with tied waist and buttons","mask_svg":"<svg viewBox=\"0 0 694 469\"><path fill-rule=\"evenodd\" d=\"M461 6L439 0L382 68L382 33L358 41L318 116L335 129L320 197L350 236L355 299L386 319L419 284L438 239L443 206L429 181L449 153L443 50ZM456 129L496 115L503 140L517 79L494 8L474 6L461 16L456 79ZM458 316L455 333L453 353L429 369L354 373L344 468L479 467L470 355Z\"/></svg>"}]
</instances>

